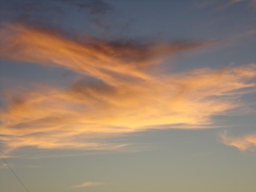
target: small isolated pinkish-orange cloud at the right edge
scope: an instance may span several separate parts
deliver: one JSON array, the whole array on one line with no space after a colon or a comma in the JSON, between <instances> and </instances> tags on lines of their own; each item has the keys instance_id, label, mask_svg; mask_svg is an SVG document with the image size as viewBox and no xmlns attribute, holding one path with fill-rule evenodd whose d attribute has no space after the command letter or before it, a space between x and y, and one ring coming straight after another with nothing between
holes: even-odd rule
<instances>
[{"instance_id":1,"label":"small isolated pinkish-orange cloud at the right edge","mask_svg":"<svg viewBox=\"0 0 256 192\"><path fill-rule=\"evenodd\" d=\"M235 138L235 137L230 137L227 135L226 132L220 134L220 138L222 139L222 142L226 146L234 146L238 150L246 151L246 150L251 150L251 151L256 151L256 135L250 134L246 135L242 138Z\"/></svg>"}]
</instances>

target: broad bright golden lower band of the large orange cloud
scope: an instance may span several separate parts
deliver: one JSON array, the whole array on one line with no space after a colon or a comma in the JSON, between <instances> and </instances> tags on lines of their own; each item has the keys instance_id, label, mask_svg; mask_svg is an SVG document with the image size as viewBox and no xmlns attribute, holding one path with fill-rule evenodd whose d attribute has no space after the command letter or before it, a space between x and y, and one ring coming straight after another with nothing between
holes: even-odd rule
<instances>
[{"instance_id":1,"label":"broad bright golden lower band of the large orange cloud","mask_svg":"<svg viewBox=\"0 0 256 192\"><path fill-rule=\"evenodd\" d=\"M142 82L76 82L66 90L53 87L26 93L6 92L2 141L10 150L115 149L94 138L138 130L187 129L210 125L211 117L242 106L239 96L255 85L255 65L226 70L195 70ZM20 98L19 101L15 98ZM207 126L206 126L207 127Z\"/></svg>"}]
</instances>

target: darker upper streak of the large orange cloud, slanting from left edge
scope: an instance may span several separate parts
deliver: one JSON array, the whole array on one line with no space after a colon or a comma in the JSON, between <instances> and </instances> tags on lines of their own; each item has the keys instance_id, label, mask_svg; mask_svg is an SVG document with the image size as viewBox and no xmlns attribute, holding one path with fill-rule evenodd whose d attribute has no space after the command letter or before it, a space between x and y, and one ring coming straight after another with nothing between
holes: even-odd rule
<instances>
[{"instance_id":1,"label":"darker upper streak of the large orange cloud, slanting from left edge","mask_svg":"<svg viewBox=\"0 0 256 192\"><path fill-rule=\"evenodd\" d=\"M77 42L58 33L22 24L2 25L0 35L2 58L62 66L110 84L117 83L113 78L120 76L150 78L141 69L159 63L163 56L213 43L174 42L139 45L134 42L103 42L94 38Z\"/></svg>"}]
</instances>

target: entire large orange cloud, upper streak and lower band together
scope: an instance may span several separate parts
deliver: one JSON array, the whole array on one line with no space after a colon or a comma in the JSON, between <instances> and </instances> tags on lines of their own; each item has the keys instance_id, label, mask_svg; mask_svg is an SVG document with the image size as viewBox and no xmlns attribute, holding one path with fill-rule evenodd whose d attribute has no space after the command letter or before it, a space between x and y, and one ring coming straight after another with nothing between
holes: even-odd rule
<instances>
[{"instance_id":1,"label":"entire large orange cloud, upper streak and lower band together","mask_svg":"<svg viewBox=\"0 0 256 192\"><path fill-rule=\"evenodd\" d=\"M86 39L81 43L21 25L5 26L0 37L4 37L2 58L94 77L66 89L5 90L0 140L6 154L24 146L115 150L123 145L99 138L161 127L207 127L214 115L242 106L238 98L255 87L255 64L170 75L149 72L168 54L212 42L142 46Z\"/></svg>"}]
</instances>

